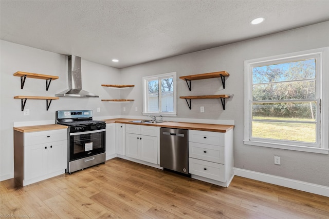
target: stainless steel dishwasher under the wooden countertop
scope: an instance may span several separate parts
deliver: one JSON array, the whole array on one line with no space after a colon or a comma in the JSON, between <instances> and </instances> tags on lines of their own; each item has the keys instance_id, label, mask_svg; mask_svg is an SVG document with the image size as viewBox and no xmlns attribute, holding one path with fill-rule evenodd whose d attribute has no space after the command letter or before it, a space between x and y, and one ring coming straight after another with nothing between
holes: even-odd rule
<instances>
[{"instance_id":1,"label":"stainless steel dishwasher under the wooden countertop","mask_svg":"<svg viewBox=\"0 0 329 219\"><path fill-rule=\"evenodd\" d=\"M188 130L161 128L160 131L160 166L188 174Z\"/></svg>"}]
</instances>

